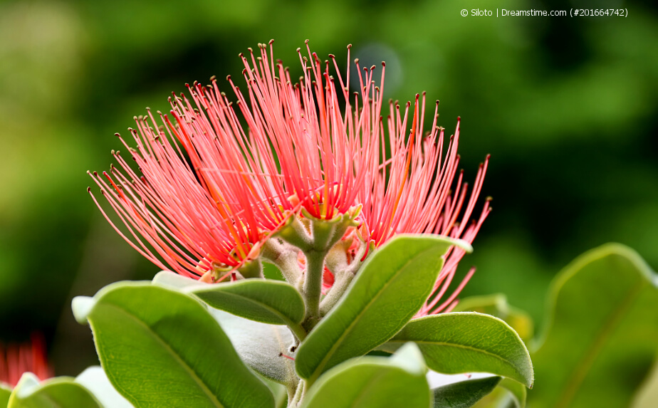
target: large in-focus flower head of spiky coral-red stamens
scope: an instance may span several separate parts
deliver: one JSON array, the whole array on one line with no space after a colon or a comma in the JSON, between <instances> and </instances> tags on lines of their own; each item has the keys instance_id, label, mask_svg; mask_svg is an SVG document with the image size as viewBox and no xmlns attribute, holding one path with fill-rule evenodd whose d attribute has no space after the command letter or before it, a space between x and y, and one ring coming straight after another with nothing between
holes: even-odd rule
<instances>
[{"instance_id":1,"label":"large in-focus flower head of spiky coral-red stamens","mask_svg":"<svg viewBox=\"0 0 658 408\"><path fill-rule=\"evenodd\" d=\"M131 133L137 149L124 144L143 176L116 152L123 172L113 168L113 177L104 173L105 179L94 179L129 234L117 231L137 251L187 276L231 270L258 256L268 236L300 209L303 216L333 219L355 206L361 206L361 225L350 231L359 238L355 245L380 246L401 233L473 241L490 211L486 202L477 221L469 221L489 158L469 197L461 172L457 176L459 122L444 152L438 102L423 136L425 96L419 103L417 95L412 115L411 103L404 110L389 103L385 132L385 64L377 85L375 66L361 68L355 61L360 87L350 100L349 64L343 79L330 56L334 78L329 61L311 53L308 41L306 48L308 56L298 49L300 83L273 60L272 42L241 55L249 98L228 80L246 127L216 80L207 87L188 86L190 99L170 98L173 120L159 114L158 121L150 111L136 118L137 130ZM349 54L350 46L348 61ZM442 304L439 299L463 255L461 249L449 250L422 314L454 305L454 295ZM325 289L331 278L325 273Z\"/></svg>"}]
</instances>

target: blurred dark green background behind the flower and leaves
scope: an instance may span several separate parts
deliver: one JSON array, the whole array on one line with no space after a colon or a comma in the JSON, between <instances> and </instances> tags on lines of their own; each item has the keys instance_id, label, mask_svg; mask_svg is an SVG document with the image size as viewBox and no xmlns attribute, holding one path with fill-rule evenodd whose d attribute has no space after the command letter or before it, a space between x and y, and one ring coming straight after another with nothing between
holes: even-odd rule
<instances>
[{"instance_id":1,"label":"blurred dark green background behind the flower and leaves","mask_svg":"<svg viewBox=\"0 0 658 408\"><path fill-rule=\"evenodd\" d=\"M594 3L629 16L459 14ZM85 171L108 169L113 134L184 83L240 83L238 53L270 38L293 78L306 38L321 58L352 43L363 65L387 61L387 98L426 90L449 132L461 116L469 180L491 153L494 211L462 261L478 267L464 295L504 292L541 323L550 279L587 249L617 241L658 266L653 1L4 1L0 341L45 333L58 375L95 362L73 295L158 269L95 209Z\"/></svg>"}]
</instances>

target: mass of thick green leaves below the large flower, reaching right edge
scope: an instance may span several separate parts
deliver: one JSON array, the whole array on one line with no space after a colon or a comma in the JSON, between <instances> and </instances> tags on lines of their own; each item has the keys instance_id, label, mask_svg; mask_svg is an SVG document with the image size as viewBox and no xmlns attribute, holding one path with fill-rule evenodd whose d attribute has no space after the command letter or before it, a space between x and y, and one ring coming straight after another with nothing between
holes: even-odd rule
<instances>
[{"instance_id":1,"label":"mass of thick green leaves below the large flower, reaching right edge","mask_svg":"<svg viewBox=\"0 0 658 408\"><path fill-rule=\"evenodd\" d=\"M432 400L434 407L490 408L503 402L523 408L526 399L538 408L622 407L632 399L634 408L651 406L658 280L635 252L602 246L560 273L541 347L533 354L541 383L527 392L535 377L533 362L523 340L501 319L516 325L526 339L532 324L504 296L461 303L462 309L499 318L453 312L409 320L427 298L451 244L433 236L399 236L382 246L299 343L286 325L268 324L298 325L304 318L301 297L287 283L249 279L206 285L172 273L158 274L154 284L117 283L95 298L73 302L75 317L92 327L109 381L96 371L96 381L88 375L85 382L85 372L75 382L51 383L82 389L97 404L93 407L98 402L81 384L89 384L102 402L116 401L106 404L130 407L111 382L137 408L154 401L278 408L288 397L304 408L429 407ZM235 314L207 309L202 302ZM375 347L395 354L362 357ZM497 377L430 392L424 377L428 367ZM102 386L92 387L93 382ZM46 387L26 377L12 395L20 395L20 389L37 394L34 389ZM13 407L19 399L11 398Z\"/></svg>"}]
</instances>

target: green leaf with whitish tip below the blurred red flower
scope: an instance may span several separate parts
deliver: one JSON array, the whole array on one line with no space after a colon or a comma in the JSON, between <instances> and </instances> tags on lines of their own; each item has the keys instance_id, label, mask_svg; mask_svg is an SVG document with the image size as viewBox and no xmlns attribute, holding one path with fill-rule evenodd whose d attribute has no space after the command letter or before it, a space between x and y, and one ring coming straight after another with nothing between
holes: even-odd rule
<instances>
[{"instance_id":1,"label":"green leaf with whitish tip below the blurred red flower","mask_svg":"<svg viewBox=\"0 0 658 408\"><path fill-rule=\"evenodd\" d=\"M39 383L26 372L9 397L7 408L102 408L93 395L70 377Z\"/></svg>"}]
</instances>

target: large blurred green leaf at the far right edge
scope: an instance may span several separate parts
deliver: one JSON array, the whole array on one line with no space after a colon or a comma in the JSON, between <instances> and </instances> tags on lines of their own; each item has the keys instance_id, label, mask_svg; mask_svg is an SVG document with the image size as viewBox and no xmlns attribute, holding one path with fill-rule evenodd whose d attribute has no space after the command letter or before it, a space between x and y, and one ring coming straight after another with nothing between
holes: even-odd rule
<instances>
[{"instance_id":1,"label":"large blurred green leaf at the far right edge","mask_svg":"<svg viewBox=\"0 0 658 408\"><path fill-rule=\"evenodd\" d=\"M548 324L533 354L541 387L528 405L627 407L658 350L656 275L635 251L607 244L553 281Z\"/></svg>"}]
</instances>

